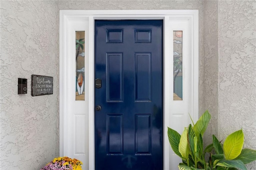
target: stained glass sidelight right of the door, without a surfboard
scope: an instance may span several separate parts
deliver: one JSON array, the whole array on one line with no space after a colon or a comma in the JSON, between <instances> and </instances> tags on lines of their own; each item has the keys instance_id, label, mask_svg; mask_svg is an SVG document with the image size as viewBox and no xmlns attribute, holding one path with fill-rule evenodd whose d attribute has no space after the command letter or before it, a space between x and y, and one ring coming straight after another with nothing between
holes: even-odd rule
<instances>
[{"instance_id":1,"label":"stained glass sidelight right of the door, without a surfboard","mask_svg":"<svg viewBox=\"0 0 256 170\"><path fill-rule=\"evenodd\" d=\"M173 100L182 100L182 31L173 32Z\"/></svg>"}]
</instances>

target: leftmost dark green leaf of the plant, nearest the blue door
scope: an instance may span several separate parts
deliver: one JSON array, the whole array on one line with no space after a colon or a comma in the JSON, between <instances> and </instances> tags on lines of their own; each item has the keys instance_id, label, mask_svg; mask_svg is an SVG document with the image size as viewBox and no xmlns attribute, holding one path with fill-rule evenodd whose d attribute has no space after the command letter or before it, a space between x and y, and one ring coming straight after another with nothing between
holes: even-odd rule
<instances>
[{"instance_id":1,"label":"leftmost dark green leaf of the plant, nearest the blue door","mask_svg":"<svg viewBox=\"0 0 256 170\"><path fill-rule=\"evenodd\" d=\"M174 153L182 158L179 152L180 134L176 130L168 127L168 139Z\"/></svg>"}]
</instances>

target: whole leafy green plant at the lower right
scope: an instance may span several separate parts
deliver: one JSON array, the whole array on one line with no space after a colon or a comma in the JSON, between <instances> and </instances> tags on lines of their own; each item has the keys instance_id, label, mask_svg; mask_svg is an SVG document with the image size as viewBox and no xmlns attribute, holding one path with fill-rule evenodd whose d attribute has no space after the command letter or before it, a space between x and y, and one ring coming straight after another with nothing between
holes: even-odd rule
<instances>
[{"instance_id":1,"label":"whole leafy green plant at the lower right","mask_svg":"<svg viewBox=\"0 0 256 170\"><path fill-rule=\"evenodd\" d=\"M242 149L242 130L228 135L223 145L212 135L212 144L203 148L203 135L210 119L210 113L205 111L196 124L192 121L193 125L185 127L181 135L168 127L172 150L182 158L179 170L247 170L245 164L256 160L256 150ZM206 153L210 154L208 160Z\"/></svg>"}]
</instances>

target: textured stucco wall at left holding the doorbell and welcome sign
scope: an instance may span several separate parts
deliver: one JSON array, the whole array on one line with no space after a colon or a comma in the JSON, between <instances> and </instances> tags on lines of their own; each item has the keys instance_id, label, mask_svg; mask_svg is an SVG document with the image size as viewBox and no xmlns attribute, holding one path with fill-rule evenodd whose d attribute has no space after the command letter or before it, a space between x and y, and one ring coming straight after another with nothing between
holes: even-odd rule
<instances>
[{"instance_id":1,"label":"textured stucco wall at left holding the doorbell and welcome sign","mask_svg":"<svg viewBox=\"0 0 256 170\"><path fill-rule=\"evenodd\" d=\"M2 170L38 170L58 156L58 11L53 1L1 1ZM54 79L53 95L32 97L31 75ZM18 77L28 94L18 95Z\"/></svg>"}]
</instances>

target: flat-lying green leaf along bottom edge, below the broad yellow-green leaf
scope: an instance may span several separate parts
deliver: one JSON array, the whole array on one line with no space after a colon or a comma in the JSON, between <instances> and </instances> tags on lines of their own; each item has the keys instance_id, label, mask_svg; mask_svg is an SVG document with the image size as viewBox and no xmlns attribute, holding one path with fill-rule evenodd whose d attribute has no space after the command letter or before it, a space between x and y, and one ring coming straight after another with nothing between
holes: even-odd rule
<instances>
[{"instance_id":1,"label":"flat-lying green leaf along bottom edge, below the broad yellow-green leaf","mask_svg":"<svg viewBox=\"0 0 256 170\"><path fill-rule=\"evenodd\" d=\"M214 167L216 166L223 166L227 168L240 168L241 170L247 170L241 160L215 160Z\"/></svg>"}]
</instances>

